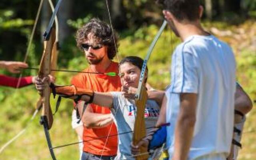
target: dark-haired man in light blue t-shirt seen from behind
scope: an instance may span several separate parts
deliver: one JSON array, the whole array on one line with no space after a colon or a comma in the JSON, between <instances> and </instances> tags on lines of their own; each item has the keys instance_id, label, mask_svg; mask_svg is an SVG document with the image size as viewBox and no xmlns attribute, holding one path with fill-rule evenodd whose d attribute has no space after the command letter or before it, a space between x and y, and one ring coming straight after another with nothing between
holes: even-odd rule
<instances>
[{"instance_id":1,"label":"dark-haired man in light blue t-shirt seen from behind","mask_svg":"<svg viewBox=\"0 0 256 160\"><path fill-rule=\"evenodd\" d=\"M234 123L234 54L228 44L203 30L199 0L158 1L182 40L172 55L172 81L166 90L169 160L226 160Z\"/></svg>"}]
</instances>

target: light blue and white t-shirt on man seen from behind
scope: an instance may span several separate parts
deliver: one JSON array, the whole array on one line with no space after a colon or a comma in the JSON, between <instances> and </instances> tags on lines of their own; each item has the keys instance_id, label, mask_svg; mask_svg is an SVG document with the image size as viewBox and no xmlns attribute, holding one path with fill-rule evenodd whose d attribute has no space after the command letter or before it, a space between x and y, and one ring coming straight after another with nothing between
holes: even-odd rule
<instances>
[{"instance_id":1,"label":"light blue and white t-shirt on man seen from behind","mask_svg":"<svg viewBox=\"0 0 256 160\"><path fill-rule=\"evenodd\" d=\"M171 85L166 90L167 146L174 152L174 129L181 93L198 94L196 124L188 160L228 154L234 123L236 63L231 48L214 36L190 36L172 55ZM186 130L184 130L186 132Z\"/></svg>"}]
</instances>

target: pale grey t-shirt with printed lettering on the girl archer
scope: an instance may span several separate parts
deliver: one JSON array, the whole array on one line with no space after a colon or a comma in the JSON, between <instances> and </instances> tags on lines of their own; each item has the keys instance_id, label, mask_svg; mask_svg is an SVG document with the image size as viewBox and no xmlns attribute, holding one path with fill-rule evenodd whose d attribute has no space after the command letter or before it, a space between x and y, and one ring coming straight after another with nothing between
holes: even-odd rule
<instances>
[{"instance_id":1,"label":"pale grey t-shirt with printed lettering on the girl archer","mask_svg":"<svg viewBox=\"0 0 256 160\"><path fill-rule=\"evenodd\" d=\"M114 116L114 122L118 130L118 151L115 160L135 160L131 157L132 135L136 118L136 106L134 100L128 100L122 96L121 92L111 92L113 96L113 108L111 109ZM154 127L160 112L160 107L154 100L147 100L145 107L145 124L146 128ZM150 129L146 130L147 132ZM126 134L120 134L130 132Z\"/></svg>"}]
</instances>

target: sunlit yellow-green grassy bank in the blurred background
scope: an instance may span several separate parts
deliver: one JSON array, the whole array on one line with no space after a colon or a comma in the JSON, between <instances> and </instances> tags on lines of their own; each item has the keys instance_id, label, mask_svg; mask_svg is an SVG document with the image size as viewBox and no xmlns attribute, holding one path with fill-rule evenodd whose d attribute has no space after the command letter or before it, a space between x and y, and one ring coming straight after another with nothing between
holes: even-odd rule
<instances>
[{"instance_id":1,"label":"sunlit yellow-green grassy bank in the blurred background","mask_svg":"<svg viewBox=\"0 0 256 160\"><path fill-rule=\"evenodd\" d=\"M78 21L74 22L74 27L79 26L79 23L80 22ZM248 27L242 27L253 27L253 22L247 23ZM204 27L207 29L216 27L219 30L235 30L237 28L237 26L230 26L229 24L223 22L204 22ZM158 26L150 25L148 27L140 27L138 30L136 30L136 32L128 30L120 33L120 35L122 35L122 39L120 40L120 52L118 54L119 58L117 58L117 61L120 61L120 59L124 56L131 55L144 58L148 51L148 46L158 32L158 29ZM220 37L220 39L225 38L226 37ZM164 30L162 36L160 36L160 39L158 40L148 62L148 82L154 88L164 90L164 88L170 84L171 55L179 43L179 38L174 36L169 29ZM237 47L239 45L232 44L234 43L234 38L230 38L228 43L233 46L234 50L238 50ZM62 54L64 58L59 58L59 69L79 71L86 68L88 63L86 62L82 52L80 52L75 46L76 43L74 38L69 38L64 44L65 45L62 46L60 51L60 54ZM36 52L35 48L36 44L33 44L31 52ZM252 100L254 100L256 98L255 50L249 47L244 47L239 50L241 50L241 52L236 53L238 82L240 82L244 90L248 92ZM33 55L34 53L31 53L29 59L36 58L33 57ZM37 63L32 61L31 64L35 65ZM26 72L26 74L31 73ZM70 84L70 80L74 75L75 73L57 72L56 84L68 85ZM33 107L35 106L38 97L39 96L34 89L34 86L25 87L18 90L6 87L0 88L0 147L26 126L26 123L29 121L32 113L34 112ZM54 110L55 105L56 99L51 98L52 110ZM72 100L62 99L59 111L54 116L53 127L50 130L50 135L54 146L77 141L76 134L70 125L72 108ZM248 121L246 121L246 127L244 129L246 132L256 130L256 118L254 118L255 114L256 112L254 109L250 113ZM28 127L27 132L8 148L6 148L6 150L4 150L3 154L1 154L1 158L3 157L5 160L50 159L42 126L38 124L39 117L40 116L38 114L36 119L30 124L30 127ZM244 149L240 155L241 160L252 160L256 158L256 148L255 145L253 145L253 142L256 140L255 135L247 134L247 136L249 138L243 138ZM15 152L13 152L13 150L15 150ZM78 146L75 145L67 148L60 148L55 150L55 153L57 159L78 159Z\"/></svg>"}]
</instances>

